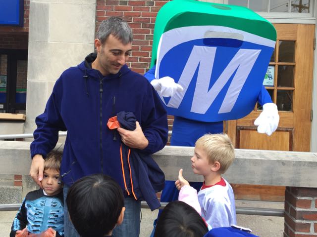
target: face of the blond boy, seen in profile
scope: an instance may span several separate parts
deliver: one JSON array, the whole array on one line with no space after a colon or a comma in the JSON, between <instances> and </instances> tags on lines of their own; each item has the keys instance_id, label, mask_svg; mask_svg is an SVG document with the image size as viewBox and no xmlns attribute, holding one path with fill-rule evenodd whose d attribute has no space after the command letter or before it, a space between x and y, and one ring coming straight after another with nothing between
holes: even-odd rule
<instances>
[{"instance_id":1,"label":"face of the blond boy, seen in profile","mask_svg":"<svg viewBox=\"0 0 317 237\"><path fill-rule=\"evenodd\" d=\"M205 176L211 173L211 164L208 162L208 156L204 149L195 147L194 156L190 160L195 174Z\"/></svg>"}]
</instances>

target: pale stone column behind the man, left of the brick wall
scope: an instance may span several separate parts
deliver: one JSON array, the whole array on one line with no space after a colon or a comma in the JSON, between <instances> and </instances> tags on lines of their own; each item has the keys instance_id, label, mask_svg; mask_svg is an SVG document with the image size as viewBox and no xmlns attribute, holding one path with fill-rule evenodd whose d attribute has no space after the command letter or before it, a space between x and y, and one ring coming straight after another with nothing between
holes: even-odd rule
<instances>
[{"instance_id":1,"label":"pale stone column behind the man, left of the brick wall","mask_svg":"<svg viewBox=\"0 0 317 237\"><path fill-rule=\"evenodd\" d=\"M26 133L60 74L93 52L95 18L96 0L30 0Z\"/></svg>"}]
</instances>

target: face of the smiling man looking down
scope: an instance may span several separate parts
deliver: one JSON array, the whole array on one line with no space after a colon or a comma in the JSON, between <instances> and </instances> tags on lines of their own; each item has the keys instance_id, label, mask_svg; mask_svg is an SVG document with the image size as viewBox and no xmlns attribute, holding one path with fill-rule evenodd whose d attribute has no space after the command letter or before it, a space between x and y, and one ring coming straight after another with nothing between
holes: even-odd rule
<instances>
[{"instance_id":1,"label":"face of the smiling man looking down","mask_svg":"<svg viewBox=\"0 0 317 237\"><path fill-rule=\"evenodd\" d=\"M128 60L132 50L132 42L123 44L112 35L109 35L104 44L101 44L101 41L96 39L95 45L98 52L96 69L104 76L117 74Z\"/></svg>"}]
</instances>

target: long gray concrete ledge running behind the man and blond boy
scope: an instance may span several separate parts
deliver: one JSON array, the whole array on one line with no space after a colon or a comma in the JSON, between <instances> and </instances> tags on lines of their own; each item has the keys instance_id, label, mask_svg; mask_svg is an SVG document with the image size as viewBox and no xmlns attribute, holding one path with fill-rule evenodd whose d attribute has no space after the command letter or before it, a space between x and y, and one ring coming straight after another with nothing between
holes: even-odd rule
<instances>
[{"instance_id":1,"label":"long gray concrete ledge running behind the man and blond boy","mask_svg":"<svg viewBox=\"0 0 317 237\"><path fill-rule=\"evenodd\" d=\"M56 147L59 147L57 144ZM0 173L28 174L30 142L0 141ZM317 188L317 153L236 149L236 159L224 177L230 183ZM180 168L189 181L202 181L191 169L193 147L166 146L153 155L166 180L176 180Z\"/></svg>"}]
</instances>

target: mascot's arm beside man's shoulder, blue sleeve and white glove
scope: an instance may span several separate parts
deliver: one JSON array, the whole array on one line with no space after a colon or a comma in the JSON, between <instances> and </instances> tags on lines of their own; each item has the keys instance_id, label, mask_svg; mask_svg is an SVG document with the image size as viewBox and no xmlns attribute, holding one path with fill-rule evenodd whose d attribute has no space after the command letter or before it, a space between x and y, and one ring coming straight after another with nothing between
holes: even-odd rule
<instances>
[{"instance_id":1,"label":"mascot's arm beside man's shoulder, blue sleeve and white glove","mask_svg":"<svg viewBox=\"0 0 317 237\"><path fill-rule=\"evenodd\" d=\"M183 87L177 83L175 83L174 79L170 77L163 77L160 79L155 79L155 69L156 65L154 65L144 77L151 82L154 89L164 97L171 97L173 96L176 91L183 91Z\"/></svg>"}]
</instances>

